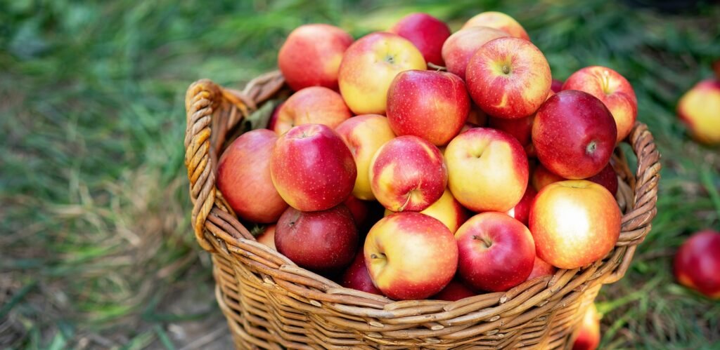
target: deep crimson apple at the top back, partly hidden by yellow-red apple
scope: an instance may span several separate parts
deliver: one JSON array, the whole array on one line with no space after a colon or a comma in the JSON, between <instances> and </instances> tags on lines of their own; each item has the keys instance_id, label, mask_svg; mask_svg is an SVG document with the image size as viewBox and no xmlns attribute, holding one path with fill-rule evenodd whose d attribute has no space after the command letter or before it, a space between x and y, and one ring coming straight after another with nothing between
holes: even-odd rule
<instances>
[{"instance_id":1,"label":"deep crimson apple at the top back, partly hidden by yellow-red apple","mask_svg":"<svg viewBox=\"0 0 720 350\"><path fill-rule=\"evenodd\" d=\"M410 40L427 63L445 64L440 52L450 36L450 28L440 19L423 13L408 14L392 26L390 32Z\"/></svg>"}]
</instances>

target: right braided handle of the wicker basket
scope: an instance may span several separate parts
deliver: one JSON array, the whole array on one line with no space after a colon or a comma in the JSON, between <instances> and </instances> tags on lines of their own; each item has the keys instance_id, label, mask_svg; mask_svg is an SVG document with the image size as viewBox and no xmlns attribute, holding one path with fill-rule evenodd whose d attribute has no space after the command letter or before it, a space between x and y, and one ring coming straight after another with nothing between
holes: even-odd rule
<instances>
[{"instance_id":1,"label":"right braided handle of the wicker basket","mask_svg":"<svg viewBox=\"0 0 720 350\"><path fill-rule=\"evenodd\" d=\"M628 203L631 210L621 219L621 233L616 247L626 249L617 270L603 280L613 283L620 280L630 267L638 244L644 241L657 214L657 184L660 181L660 152L657 151L647 125L635 122L628 139L637 157L635 178L631 180L633 201ZM633 181L634 180L634 181ZM634 185L632 185L634 182Z\"/></svg>"}]
</instances>

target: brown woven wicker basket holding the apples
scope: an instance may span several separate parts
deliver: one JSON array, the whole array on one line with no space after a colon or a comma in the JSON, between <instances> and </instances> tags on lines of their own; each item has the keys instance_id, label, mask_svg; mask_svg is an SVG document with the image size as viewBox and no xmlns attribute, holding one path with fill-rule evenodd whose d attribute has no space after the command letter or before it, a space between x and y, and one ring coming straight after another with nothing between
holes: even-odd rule
<instances>
[{"instance_id":1,"label":"brown woven wicker basket holding the apples","mask_svg":"<svg viewBox=\"0 0 720 350\"><path fill-rule=\"evenodd\" d=\"M624 216L605 259L456 302L395 302L346 289L258 244L215 187L228 135L236 137L239 122L261 103L288 94L278 72L243 91L199 80L186 94L192 224L212 253L217 303L238 349L569 349L585 309L603 284L623 277L657 210L660 155L647 126L636 123L629 137L636 175L619 147L613 156Z\"/></svg>"}]
</instances>

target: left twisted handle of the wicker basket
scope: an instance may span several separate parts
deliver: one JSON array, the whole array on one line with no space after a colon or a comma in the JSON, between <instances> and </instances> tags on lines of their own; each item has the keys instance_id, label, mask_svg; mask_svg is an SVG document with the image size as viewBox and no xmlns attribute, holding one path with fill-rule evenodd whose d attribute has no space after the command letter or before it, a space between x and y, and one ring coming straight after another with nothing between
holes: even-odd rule
<instances>
[{"instance_id":1,"label":"left twisted handle of the wicker basket","mask_svg":"<svg viewBox=\"0 0 720 350\"><path fill-rule=\"evenodd\" d=\"M197 80L187 89L185 166L193 204L192 227L198 244L208 252L215 252L207 240L207 236L212 235L206 235L208 230L217 227L208 221L213 206L232 211L222 197L216 195L216 152L225 142L228 131L283 85L284 78L279 71L274 71L251 80L243 91L221 88L208 79Z\"/></svg>"}]
</instances>

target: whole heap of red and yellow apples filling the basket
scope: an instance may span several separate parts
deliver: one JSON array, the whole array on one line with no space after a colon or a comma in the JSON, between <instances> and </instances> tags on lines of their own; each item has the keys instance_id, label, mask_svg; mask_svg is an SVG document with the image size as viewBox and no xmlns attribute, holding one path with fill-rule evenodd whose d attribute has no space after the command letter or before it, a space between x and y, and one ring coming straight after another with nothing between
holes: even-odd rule
<instances>
[{"instance_id":1,"label":"whole heap of red and yellow apples filling the basket","mask_svg":"<svg viewBox=\"0 0 720 350\"><path fill-rule=\"evenodd\" d=\"M395 300L458 300L615 246L610 160L637 101L611 68L553 80L499 12L455 33L410 14L358 40L307 24L278 63L294 93L230 144L217 188L300 267Z\"/></svg>"}]
</instances>

